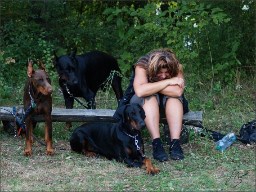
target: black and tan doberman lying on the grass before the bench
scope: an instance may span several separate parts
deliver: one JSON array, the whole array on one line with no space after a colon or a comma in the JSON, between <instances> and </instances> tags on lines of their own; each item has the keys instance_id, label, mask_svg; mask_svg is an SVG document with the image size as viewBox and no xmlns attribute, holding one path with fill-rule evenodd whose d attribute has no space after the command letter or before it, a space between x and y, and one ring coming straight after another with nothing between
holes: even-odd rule
<instances>
[{"instance_id":1,"label":"black and tan doberman lying on the grass before the bench","mask_svg":"<svg viewBox=\"0 0 256 192\"><path fill-rule=\"evenodd\" d=\"M140 130L145 127L145 112L138 104L127 104L117 109L117 123L92 122L77 127L70 138L71 149L85 156L96 154L159 174L152 161L144 157L144 143ZM136 161L135 161L136 160Z\"/></svg>"}]
</instances>

